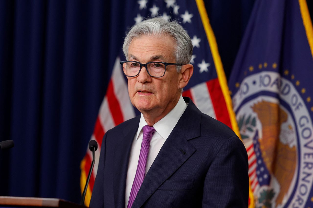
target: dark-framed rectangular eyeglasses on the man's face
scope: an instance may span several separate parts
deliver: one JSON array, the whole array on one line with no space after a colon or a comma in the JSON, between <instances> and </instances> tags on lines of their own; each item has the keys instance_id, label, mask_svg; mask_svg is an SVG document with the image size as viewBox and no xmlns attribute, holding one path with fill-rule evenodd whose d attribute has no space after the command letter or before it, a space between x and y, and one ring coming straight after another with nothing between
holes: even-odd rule
<instances>
[{"instance_id":1,"label":"dark-framed rectangular eyeglasses on the man's face","mask_svg":"<svg viewBox=\"0 0 313 208\"><path fill-rule=\"evenodd\" d=\"M134 77L139 75L141 68L144 66L151 77L162 77L165 75L166 66L168 65L177 65L182 66L183 64L173 64L166 62L152 61L146 64L141 64L138 61L121 61L123 65L123 72L126 76Z\"/></svg>"}]
</instances>

